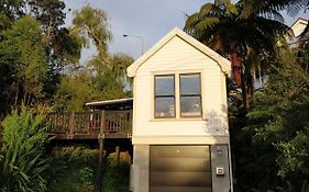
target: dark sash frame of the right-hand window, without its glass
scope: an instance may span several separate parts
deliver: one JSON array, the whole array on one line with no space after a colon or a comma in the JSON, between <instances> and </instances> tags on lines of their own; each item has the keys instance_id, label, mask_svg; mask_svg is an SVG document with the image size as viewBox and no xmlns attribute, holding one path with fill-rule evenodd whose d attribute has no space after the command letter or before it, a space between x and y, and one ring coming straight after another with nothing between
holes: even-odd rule
<instances>
[{"instance_id":1,"label":"dark sash frame of the right-hand window, without its glass","mask_svg":"<svg viewBox=\"0 0 309 192\"><path fill-rule=\"evenodd\" d=\"M198 75L199 76L199 94L183 94L181 93L181 76L192 76ZM192 98L197 97L200 99L200 114L199 115L184 115L181 111L181 98ZM201 97L201 72L186 72L186 74L179 74L179 113L181 118L191 118L191 117L202 117L202 97Z\"/></svg>"}]
</instances>

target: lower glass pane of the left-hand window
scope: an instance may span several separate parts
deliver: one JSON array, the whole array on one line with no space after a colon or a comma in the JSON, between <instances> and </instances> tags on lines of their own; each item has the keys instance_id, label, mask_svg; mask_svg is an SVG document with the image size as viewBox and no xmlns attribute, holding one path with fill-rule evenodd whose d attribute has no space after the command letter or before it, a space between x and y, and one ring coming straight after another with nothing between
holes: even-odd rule
<instances>
[{"instance_id":1,"label":"lower glass pane of the left-hand window","mask_svg":"<svg viewBox=\"0 0 309 192\"><path fill-rule=\"evenodd\" d=\"M155 117L174 117L174 116L175 116L174 97L156 98Z\"/></svg>"}]
</instances>

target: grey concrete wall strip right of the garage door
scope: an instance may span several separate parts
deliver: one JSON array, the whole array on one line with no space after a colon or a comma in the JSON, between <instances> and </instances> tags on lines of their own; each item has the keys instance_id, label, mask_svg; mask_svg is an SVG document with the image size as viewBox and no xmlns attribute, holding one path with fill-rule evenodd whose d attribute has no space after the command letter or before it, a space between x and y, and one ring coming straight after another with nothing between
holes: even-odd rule
<instances>
[{"instance_id":1,"label":"grey concrete wall strip right of the garage door","mask_svg":"<svg viewBox=\"0 0 309 192\"><path fill-rule=\"evenodd\" d=\"M223 168L224 174L217 174L217 168ZM230 191L229 148L228 145L211 146L212 191Z\"/></svg>"}]
</instances>

